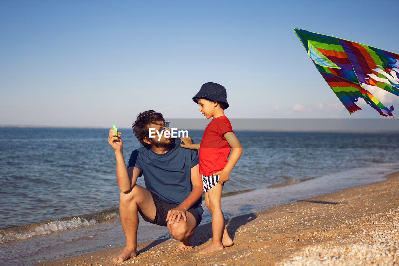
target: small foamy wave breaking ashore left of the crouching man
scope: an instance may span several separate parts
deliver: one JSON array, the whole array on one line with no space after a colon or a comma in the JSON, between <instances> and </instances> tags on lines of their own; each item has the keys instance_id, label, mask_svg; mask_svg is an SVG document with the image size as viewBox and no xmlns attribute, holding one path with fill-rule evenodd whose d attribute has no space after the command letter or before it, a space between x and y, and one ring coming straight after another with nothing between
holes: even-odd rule
<instances>
[{"instance_id":1,"label":"small foamy wave breaking ashore left of the crouching man","mask_svg":"<svg viewBox=\"0 0 399 266\"><path fill-rule=\"evenodd\" d=\"M119 217L118 210L111 209L103 210L94 214L64 217L35 224L24 224L22 226L11 226L0 230L0 243L73 230L83 226L98 224L99 222L104 222L117 217Z\"/></svg>"}]
</instances>

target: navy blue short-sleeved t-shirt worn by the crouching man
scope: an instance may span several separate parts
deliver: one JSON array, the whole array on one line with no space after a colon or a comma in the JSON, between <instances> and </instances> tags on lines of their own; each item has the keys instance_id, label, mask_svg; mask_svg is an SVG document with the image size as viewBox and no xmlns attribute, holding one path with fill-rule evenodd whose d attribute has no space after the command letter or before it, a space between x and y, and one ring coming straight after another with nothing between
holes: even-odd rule
<instances>
[{"instance_id":1,"label":"navy blue short-sleeved t-shirt worn by the crouching man","mask_svg":"<svg viewBox=\"0 0 399 266\"><path fill-rule=\"evenodd\" d=\"M193 190L191 167L199 163L198 151L180 147L180 139L175 138L172 147L164 154L154 153L151 148L141 147L132 152L129 167L140 169L144 176L146 189L157 195L162 201L180 204ZM202 199L191 208L202 216Z\"/></svg>"}]
</instances>

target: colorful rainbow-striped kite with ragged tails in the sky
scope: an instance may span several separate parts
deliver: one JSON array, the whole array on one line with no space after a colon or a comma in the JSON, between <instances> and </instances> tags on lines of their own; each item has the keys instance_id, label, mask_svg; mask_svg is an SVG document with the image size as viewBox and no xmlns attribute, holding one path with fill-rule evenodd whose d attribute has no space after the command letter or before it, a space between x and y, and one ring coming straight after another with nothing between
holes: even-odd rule
<instances>
[{"instance_id":1,"label":"colorful rainbow-striped kite with ragged tails in the sky","mask_svg":"<svg viewBox=\"0 0 399 266\"><path fill-rule=\"evenodd\" d=\"M383 116L392 116L364 86L373 85L399 96L399 55L378 48L294 29L317 70L350 114L361 110L362 98Z\"/></svg>"}]
</instances>

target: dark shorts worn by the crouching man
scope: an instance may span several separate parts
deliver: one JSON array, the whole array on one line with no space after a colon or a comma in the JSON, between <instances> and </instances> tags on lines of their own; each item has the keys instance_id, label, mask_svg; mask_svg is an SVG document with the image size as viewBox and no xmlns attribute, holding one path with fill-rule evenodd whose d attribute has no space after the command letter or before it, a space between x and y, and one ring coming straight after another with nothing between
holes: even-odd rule
<instances>
[{"instance_id":1,"label":"dark shorts worn by the crouching man","mask_svg":"<svg viewBox=\"0 0 399 266\"><path fill-rule=\"evenodd\" d=\"M150 222L152 224L158 224L160 226L166 226L167 222L165 220L166 220L166 216L168 216L168 211L172 210L173 208L176 208L178 206L178 204L171 204L171 203L163 202L162 200L160 200L158 198L157 195L155 195L151 191L150 191L150 193L152 195L152 199L154 200L154 204L156 207L155 219L152 221L150 218L145 216L142 213L142 211L140 210L140 208L138 209L138 212L140 212L141 217L143 217L144 221ZM193 214L193 216L197 222L197 225L196 225L196 227L197 227L202 220L202 216L199 214L198 210L196 210L194 208L190 208L187 211L190 212L191 214Z\"/></svg>"}]
</instances>

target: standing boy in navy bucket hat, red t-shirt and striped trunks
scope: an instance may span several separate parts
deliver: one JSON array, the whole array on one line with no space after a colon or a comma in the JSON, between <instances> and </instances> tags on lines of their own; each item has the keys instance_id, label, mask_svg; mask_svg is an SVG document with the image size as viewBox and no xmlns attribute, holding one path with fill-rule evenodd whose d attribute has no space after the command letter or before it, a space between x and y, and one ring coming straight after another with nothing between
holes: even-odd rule
<instances>
[{"instance_id":1,"label":"standing boy in navy bucket hat, red t-shirt and striped trunks","mask_svg":"<svg viewBox=\"0 0 399 266\"><path fill-rule=\"evenodd\" d=\"M193 100L199 104L199 111L206 118L213 118L205 128L201 143L193 144L190 137L181 138L184 142L182 147L199 149L199 173L202 175L205 204L212 214L212 242L199 252L206 254L233 245L221 210L221 196L223 185L229 180L231 169L241 156L242 147L224 115L223 110L229 107L225 87L207 82ZM233 151L227 161L231 149Z\"/></svg>"}]
</instances>

